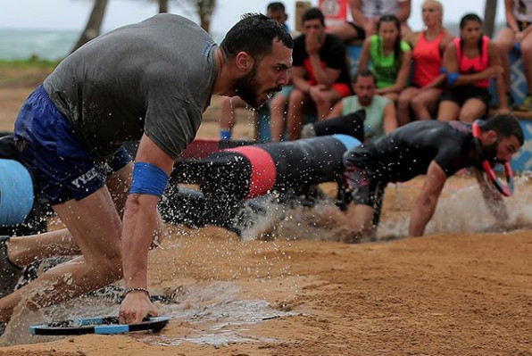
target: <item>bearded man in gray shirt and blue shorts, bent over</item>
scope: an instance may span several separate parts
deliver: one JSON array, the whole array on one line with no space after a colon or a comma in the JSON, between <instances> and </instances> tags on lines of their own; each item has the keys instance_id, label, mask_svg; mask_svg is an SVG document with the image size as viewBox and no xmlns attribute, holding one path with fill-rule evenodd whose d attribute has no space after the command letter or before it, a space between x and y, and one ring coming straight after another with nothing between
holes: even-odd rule
<instances>
[{"instance_id":1,"label":"bearded man in gray shirt and blue shorts, bent over","mask_svg":"<svg viewBox=\"0 0 532 356\"><path fill-rule=\"evenodd\" d=\"M68 232L1 239L0 321L11 319L22 295L38 307L62 302L120 279L122 266L121 322L157 315L147 253L161 233L156 204L174 160L195 137L211 95L260 106L287 85L291 55L292 38L262 14L244 15L220 47L194 22L159 14L62 61L22 106L15 139ZM130 140L140 140L135 164L121 148ZM81 255L5 295L19 267L48 257L50 244L59 247L49 254Z\"/></svg>"}]
</instances>

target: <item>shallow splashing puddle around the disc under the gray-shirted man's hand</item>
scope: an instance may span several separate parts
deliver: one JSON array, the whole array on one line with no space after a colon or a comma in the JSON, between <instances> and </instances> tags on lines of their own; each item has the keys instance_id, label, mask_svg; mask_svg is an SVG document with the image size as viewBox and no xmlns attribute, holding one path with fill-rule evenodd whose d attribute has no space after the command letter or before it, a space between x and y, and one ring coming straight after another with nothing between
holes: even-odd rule
<instances>
[{"instance_id":1,"label":"shallow splashing puddle around the disc under the gray-shirted man's hand","mask_svg":"<svg viewBox=\"0 0 532 356\"><path fill-rule=\"evenodd\" d=\"M63 319L101 317L118 315L120 304L116 302L116 289L112 294L95 297L80 297L74 301L39 310L38 315L21 313L23 317L12 319L8 326L9 335L4 344L31 344L52 341L71 336L31 336L30 324ZM182 343L209 344L214 347L233 343L266 342L275 343L270 338L246 335L250 326L263 320L295 315L295 312L275 310L264 300L243 300L240 287L232 282L213 282L179 286L170 303L160 303L162 315L170 316L170 326L159 334L130 334L145 344L178 345ZM175 325L181 322L185 333L176 333ZM173 335L172 335L173 334Z\"/></svg>"}]
</instances>

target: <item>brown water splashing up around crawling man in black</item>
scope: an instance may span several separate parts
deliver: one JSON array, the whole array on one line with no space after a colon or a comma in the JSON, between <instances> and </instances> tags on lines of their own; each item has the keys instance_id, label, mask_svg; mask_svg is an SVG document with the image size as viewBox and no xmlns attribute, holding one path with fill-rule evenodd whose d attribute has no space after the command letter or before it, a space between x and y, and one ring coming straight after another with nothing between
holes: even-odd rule
<instances>
[{"instance_id":1,"label":"brown water splashing up around crawling man in black","mask_svg":"<svg viewBox=\"0 0 532 356\"><path fill-rule=\"evenodd\" d=\"M505 232L532 228L532 173L515 179L516 193L503 198L509 219L497 222L488 210L476 181L441 196L434 216L429 221L425 235L463 232ZM387 189L400 190L388 186ZM396 193L396 192L395 192ZM401 197L404 198L404 197ZM395 205L401 205L395 198ZM415 197L412 197L414 199ZM266 213L258 216L254 225L245 231L245 240L254 238L307 239L312 241L343 241L345 214L328 202L318 203L313 208L293 209L279 204L265 205ZM410 207L398 209L391 218L381 219L377 241L408 236Z\"/></svg>"}]
</instances>

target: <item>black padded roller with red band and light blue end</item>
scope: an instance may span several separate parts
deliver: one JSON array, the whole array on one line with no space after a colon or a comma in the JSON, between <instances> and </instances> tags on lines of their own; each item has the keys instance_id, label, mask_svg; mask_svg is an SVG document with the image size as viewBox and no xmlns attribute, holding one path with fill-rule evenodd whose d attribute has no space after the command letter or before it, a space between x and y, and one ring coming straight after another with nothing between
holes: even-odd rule
<instances>
[{"instance_id":1,"label":"black padded roller with red band and light blue end","mask_svg":"<svg viewBox=\"0 0 532 356\"><path fill-rule=\"evenodd\" d=\"M163 219L231 228L246 199L271 192L278 192L281 199L305 195L312 186L339 181L343 154L353 145L360 141L346 135L312 137L240 146L199 160L178 161L163 195ZM179 183L197 184L199 192L177 187Z\"/></svg>"}]
</instances>

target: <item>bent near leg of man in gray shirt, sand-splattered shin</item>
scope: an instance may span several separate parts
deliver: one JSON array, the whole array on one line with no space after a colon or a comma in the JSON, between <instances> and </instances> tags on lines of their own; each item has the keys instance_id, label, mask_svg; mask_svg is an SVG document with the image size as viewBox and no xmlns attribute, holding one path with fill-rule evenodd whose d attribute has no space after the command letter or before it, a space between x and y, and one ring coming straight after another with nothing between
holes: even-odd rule
<instances>
[{"instance_id":1,"label":"bent near leg of man in gray shirt, sand-splattered shin","mask_svg":"<svg viewBox=\"0 0 532 356\"><path fill-rule=\"evenodd\" d=\"M79 201L54 205L54 210L83 256L47 270L28 286L1 299L0 321L11 319L22 297L44 307L106 286L122 276L121 219L107 186Z\"/></svg>"}]
</instances>

